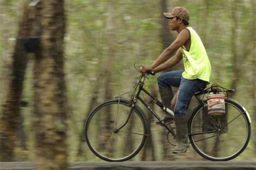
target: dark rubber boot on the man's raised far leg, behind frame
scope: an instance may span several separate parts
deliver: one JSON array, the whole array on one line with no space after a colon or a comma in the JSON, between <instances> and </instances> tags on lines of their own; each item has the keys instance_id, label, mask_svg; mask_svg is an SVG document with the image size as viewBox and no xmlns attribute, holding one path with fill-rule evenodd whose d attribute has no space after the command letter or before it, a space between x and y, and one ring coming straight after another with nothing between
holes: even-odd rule
<instances>
[{"instance_id":1,"label":"dark rubber boot on the man's raised far leg, behind frame","mask_svg":"<svg viewBox=\"0 0 256 170\"><path fill-rule=\"evenodd\" d=\"M164 106L167 107L168 109L172 110L172 108L171 108L171 101L173 98L172 88L166 87L163 89L159 89L159 94L160 94L161 101L164 104ZM171 114L169 114L167 112L164 112L164 114L165 114L165 116L163 118L163 121L165 123L173 120L173 116ZM155 121L154 123L161 125L161 123L159 121Z\"/></svg>"}]
</instances>

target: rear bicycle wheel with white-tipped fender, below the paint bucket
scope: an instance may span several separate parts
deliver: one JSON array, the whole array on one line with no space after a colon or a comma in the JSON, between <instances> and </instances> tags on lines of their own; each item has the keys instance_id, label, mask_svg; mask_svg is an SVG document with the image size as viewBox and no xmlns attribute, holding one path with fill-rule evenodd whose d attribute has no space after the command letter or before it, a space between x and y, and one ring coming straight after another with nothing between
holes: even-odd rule
<instances>
[{"instance_id":1,"label":"rear bicycle wheel with white-tipped fender, below the paint bucket","mask_svg":"<svg viewBox=\"0 0 256 170\"><path fill-rule=\"evenodd\" d=\"M203 120L206 110L198 105L188 124L188 136L194 150L208 160L231 160L245 150L250 140L251 123L246 111L232 99L226 99L225 103L226 118L210 116L207 120L210 126L206 127Z\"/></svg>"}]
</instances>

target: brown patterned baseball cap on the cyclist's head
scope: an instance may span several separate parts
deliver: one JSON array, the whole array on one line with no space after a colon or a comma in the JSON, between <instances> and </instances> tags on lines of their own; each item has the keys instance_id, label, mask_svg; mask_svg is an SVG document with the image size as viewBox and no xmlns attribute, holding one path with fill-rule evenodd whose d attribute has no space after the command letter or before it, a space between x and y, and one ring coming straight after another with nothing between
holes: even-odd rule
<instances>
[{"instance_id":1,"label":"brown patterned baseball cap on the cyclist's head","mask_svg":"<svg viewBox=\"0 0 256 170\"><path fill-rule=\"evenodd\" d=\"M165 18L168 18L168 19L173 18L173 17L179 17L179 18L185 20L186 22L188 22L188 20L190 20L190 13L183 6L176 6L172 10L171 13L164 12L164 16L165 16Z\"/></svg>"}]
</instances>

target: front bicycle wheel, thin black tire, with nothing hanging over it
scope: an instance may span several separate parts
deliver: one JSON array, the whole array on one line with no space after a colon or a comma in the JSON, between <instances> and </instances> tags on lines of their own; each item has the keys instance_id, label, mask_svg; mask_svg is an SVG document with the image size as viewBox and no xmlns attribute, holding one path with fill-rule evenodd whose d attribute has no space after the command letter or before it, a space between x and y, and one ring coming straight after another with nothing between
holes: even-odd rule
<instances>
[{"instance_id":1,"label":"front bicycle wheel, thin black tire, with nothing hanging over it","mask_svg":"<svg viewBox=\"0 0 256 170\"><path fill-rule=\"evenodd\" d=\"M143 111L126 100L112 100L92 110L85 123L90 150L106 161L125 161L143 147L149 134Z\"/></svg>"}]
</instances>

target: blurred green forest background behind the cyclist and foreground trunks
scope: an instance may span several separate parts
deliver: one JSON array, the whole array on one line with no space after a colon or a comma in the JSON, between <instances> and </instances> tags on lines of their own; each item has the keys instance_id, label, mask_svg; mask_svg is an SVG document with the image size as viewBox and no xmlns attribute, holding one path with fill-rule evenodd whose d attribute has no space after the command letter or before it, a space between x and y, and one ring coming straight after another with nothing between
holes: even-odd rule
<instances>
[{"instance_id":1,"label":"blurred green forest background behind the cyclist and foreground trunks","mask_svg":"<svg viewBox=\"0 0 256 170\"><path fill-rule=\"evenodd\" d=\"M0 0L0 110L5 100L11 55L25 1ZM256 122L255 18L256 1L65 1L64 73L68 96L68 160L98 161L83 142L83 124L97 104L133 87L138 73L133 63L148 65L177 37L163 12L174 6L190 11L190 26L204 42L212 64L211 82L236 89L232 96ZM23 83L21 122L14 161L33 161L33 54ZM173 69L182 69L182 63ZM147 86L158 95L156 77ZM158 95L159 96L159 95ZM160 112L160 111L159 111ZM148 115L150 119L150 115ZM256 124L251 141L237 160L255 160ZM202 160L197 153L172 155L165 131L151 126L153 139L133 160Z\"/></svg>"}]
</instances>

